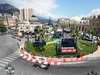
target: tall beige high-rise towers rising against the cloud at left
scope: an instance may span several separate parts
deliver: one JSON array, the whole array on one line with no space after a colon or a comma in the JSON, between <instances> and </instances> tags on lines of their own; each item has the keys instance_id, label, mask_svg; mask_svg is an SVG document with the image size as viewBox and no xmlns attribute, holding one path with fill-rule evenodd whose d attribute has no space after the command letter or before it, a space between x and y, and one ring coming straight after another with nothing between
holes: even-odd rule
<instances>
[{"instance_id":1,"label":"tall beige high-rise towers rising against the cloud at left","mask_svg":"<svg viewBox=\"0 0 100 75\"><path fill-rule=\"evenodd\" d=\"M19 15L19 20L20 21L29 21L31 16L32 16L32 8L25 8L25 9L20 9L20 15Z\"/></svg>"}]
</instances>

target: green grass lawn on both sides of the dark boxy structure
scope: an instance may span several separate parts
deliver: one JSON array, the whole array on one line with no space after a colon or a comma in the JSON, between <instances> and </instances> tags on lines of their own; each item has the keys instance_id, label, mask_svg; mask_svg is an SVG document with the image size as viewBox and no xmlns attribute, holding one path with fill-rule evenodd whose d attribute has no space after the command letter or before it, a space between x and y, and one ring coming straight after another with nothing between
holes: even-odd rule
<instances>
[{"instance_id":1,"label":"green grass lawn on both sides of the dark boxy structure","mask_svg":"<svg viewBox=\"0 0 100 75\"><path fill-rule=\"evenodd\" d=\"M56 55L56 43L51 42L44 47L35 47L31 42L25 44L25 48L28 52L36 55L47 56L47 57L57 57ZM93 53L96 50L96 44L92 44L89 41L77 40L77 49L84 54ZM79 53L76 54L66 54L63 57L77 57Z\"/></svg>"}]
</instances>

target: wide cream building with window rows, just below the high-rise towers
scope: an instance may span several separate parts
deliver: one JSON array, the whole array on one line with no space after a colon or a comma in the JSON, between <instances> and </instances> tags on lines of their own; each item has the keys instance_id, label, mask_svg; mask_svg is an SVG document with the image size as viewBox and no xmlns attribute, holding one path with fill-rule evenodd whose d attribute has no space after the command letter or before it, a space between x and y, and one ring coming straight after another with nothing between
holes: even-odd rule
<instances>
[{"instance_id":1,"label":"wide cream building with window rows, just below the high-rise towers","mask_svg":"<svg viewBox=\"0 0 100 75\"><path fill-rule=\"evenodd\" d=\"M39 22L36 16L34 16L30 21L19 21L17 30L19 32L34 32L34 29L37 26L43 27L43 24Z\"/></svg>"}]
</instances>

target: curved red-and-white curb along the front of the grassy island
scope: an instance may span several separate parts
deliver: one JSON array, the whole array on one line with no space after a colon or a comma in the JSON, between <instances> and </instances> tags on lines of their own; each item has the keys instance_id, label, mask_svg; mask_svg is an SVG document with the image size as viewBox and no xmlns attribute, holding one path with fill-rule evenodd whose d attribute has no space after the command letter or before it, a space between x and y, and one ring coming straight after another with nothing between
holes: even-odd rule
<instances>
[{"instance_id":1,"label":"curved red-and-white curb along the front of the grassy island","mask_svg":"<svg viewBox=\"0 0 100 75\"><path fill-rule=\"evenodd\" d=\"M25 51L23 48L20 49L20 56L32 63L43 63L43 64L50 64L50 65L61 65L61 64L67 64L68 62L82 62L86 60L86 58L80 57L80 58L46 58L46 57L39 57L39 56L33 56L27 51Z\"/></svg>"}]
</instances>

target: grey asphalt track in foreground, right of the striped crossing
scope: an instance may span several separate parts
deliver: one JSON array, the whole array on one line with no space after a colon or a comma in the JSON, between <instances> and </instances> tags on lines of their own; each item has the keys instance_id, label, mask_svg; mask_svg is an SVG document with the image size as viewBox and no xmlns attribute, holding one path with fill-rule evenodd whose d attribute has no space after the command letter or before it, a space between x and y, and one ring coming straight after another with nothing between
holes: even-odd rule
<instances>
[{"instance_id":1,"label":"grey asphalt track in foreground, right of the striped crossing","mask_svg":"<svg viewBox=\"0 0 100 75\"><path fill-rule=\"evenodd\" d=\"M12 62L15 68L15 75L87 75L88 72L94 70L100 75L100 62L92 62L92 64L77 66L51 66L50 69L43 70L32 67L30 62L21 58Z\"/></svg>"}]
</instances>

